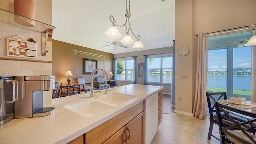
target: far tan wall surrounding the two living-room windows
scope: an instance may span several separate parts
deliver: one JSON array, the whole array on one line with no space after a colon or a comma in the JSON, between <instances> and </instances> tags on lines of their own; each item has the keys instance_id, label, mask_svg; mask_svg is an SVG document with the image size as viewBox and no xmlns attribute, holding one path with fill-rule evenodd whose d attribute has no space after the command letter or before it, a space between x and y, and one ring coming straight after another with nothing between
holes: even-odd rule
<instances>
[{"instance_id":1,"label":"far tan wall surrounding the two living-room windows","mask_svg":"<svg viewBox=\"0 0 256 144\"><path fill-rule=\"evenodd\" d=\"M159 48L159 49L150 49L150 50L142 50L142 51L136 51L136 52L130 52L130 53L120 53L120 54L114 54L114 58L122 58L122 57L129 57L129 56L137 56L137 63L138 64L144 64L145 63L145 56L149 54L160 54L160 53L172 53L172 47L165 47L165 48ZM118 86L123 86L131 84L131 82L127 81L117 81ZM138 72L136 72L136 84L144 84L144 77L139 78ZM164 86L163 93L170 94L170 84L151 84L154 86Z\"/></svg>"}]
</instances>

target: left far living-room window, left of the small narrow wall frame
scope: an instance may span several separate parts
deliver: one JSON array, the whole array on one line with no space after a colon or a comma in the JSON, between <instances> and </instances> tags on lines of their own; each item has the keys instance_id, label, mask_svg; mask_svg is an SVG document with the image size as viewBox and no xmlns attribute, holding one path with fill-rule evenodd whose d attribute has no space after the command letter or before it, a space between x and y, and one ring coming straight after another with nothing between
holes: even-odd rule
<instances>
[{"instance_id":1,"label":"left far living-room window, left of the small narrow wall frame","mask_svg":"<svg viewBox=\"0 0 256 144\"><path fill-rule=\"evenodd\" d=\"M135 81L135 57L116 58L117 80Z\"/></svg>"}]
</instances>

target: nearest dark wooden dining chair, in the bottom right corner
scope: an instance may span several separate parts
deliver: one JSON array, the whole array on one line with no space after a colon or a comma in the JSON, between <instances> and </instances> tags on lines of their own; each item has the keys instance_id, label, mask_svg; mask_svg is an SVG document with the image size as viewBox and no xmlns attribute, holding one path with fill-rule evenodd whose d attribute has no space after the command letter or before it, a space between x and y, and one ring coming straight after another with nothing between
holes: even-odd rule
<instances>
[{"instance_id":1,"label":"nearest dark wooden dining chair, in the bottom right corner","mask_svg":"<svg viewBox=\"0 0 256 144\"><path fill-rule=\"evenodd\" d=\"M218 101L215 101L214 103L220 130L221 144L256 144L255 133L251 134L250 132L244 130L243 127L244 125L250 125L251 129L254 129L252 124L256 122L256 113L236 109L234 107L219 103ZM232 125L224 125L225 119L222 118L221 112L226 114L226 116L230 119L230 122L232 122ZM231 117L231 113L242 114L244 117L250 117L250 120L238 123L235 119L233 119L233 117Z\"/></svg>"}]
</instances>

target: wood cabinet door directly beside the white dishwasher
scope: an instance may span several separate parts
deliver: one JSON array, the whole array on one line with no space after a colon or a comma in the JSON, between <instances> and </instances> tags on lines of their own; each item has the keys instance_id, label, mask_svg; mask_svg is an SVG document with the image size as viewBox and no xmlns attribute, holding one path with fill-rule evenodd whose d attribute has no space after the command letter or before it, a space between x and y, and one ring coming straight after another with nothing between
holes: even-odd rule
<instances>
[{"instance_id":1,"label":"wood cabinet door directly beside the white dishwasher","mask_svg":"<svg viewBox=\"0 0 256 144\"><path fill-rule=\"evenodd\" d=\"M128 134L127 144L143 144L144 143L144 112L140 113L132 121L126 125Z\"/></svg>"}]
</instances>

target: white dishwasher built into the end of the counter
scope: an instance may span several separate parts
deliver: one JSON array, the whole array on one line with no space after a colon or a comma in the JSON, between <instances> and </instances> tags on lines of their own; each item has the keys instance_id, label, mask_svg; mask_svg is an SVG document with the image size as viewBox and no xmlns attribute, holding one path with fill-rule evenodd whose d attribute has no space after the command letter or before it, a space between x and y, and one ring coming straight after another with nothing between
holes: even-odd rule
<instances>
[{"instance_id":1,"label":"white dishwasher built into the end of the counter","mask_svg":"<svg viewBox=\"0 0 256 144\"><path fill-rule=\"evenodd\" d=\"M145 144L150 144L158 129L158 93L145 99Z\"/></svg>"}]
</instances>

